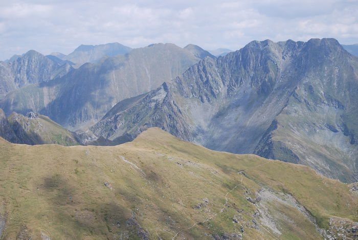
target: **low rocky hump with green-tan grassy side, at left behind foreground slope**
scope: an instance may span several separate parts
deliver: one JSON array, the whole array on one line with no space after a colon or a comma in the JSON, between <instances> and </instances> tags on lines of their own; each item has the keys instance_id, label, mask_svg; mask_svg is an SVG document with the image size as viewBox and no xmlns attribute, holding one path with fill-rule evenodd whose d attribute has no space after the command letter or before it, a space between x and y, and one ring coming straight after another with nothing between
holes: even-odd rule
<instances>
[{"instance_id":1,"label":"low rocky hump with green-tan grassy side, at left behind foreground slope","mask_svg":"<svg viewBox=\"0 0 358 240\"><path fill-rule=\"evenodd\" d=\"M28 145L61 144L78 145L76 137L46 116L29 112L24 115L12 113L6 118L0 108L0 136L12 143Z\"/></svg>"}]
</instances>

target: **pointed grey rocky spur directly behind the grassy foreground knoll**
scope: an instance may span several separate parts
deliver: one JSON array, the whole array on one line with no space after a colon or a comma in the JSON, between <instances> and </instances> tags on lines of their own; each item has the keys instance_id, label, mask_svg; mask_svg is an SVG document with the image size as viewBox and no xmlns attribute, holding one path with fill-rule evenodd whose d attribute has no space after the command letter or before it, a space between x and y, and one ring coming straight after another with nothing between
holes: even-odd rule
<instances>
[{"instance_id":1,"label":"pointed grey rocky spur directly behind the grassy foreground knoll","mask_svg":"<svg viewBox=\"0 0 358 240\"><path fill-rule=\"evenodd\" d=\"M128 106L131 106L128 111L122 111ZM130 119L127 118L129 116ZM150 94L119 102L99 123L91 127L91 130L96 136L116 141L124 136L132 140L133 136L139 135L143 130L158 126L167 132L175 133L181 139L191 140L191 129L189 124L183 121L184 118L167 83L163 83Z\"/></svg>"}]
</instances>

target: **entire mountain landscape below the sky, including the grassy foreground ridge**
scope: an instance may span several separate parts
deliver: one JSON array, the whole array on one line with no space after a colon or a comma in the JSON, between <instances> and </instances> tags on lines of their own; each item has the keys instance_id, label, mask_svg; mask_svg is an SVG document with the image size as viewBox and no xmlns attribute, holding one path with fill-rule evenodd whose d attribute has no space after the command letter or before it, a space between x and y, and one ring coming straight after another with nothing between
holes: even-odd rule
<instances>
[{"instance_id":1,"label":"entire mountain landscape below the sky, including the grassy foreground ridge","mask_svg":"<svg viewBox=\"0 0 358 240\"><path fill-rule=\"evenodd\" d=\"M357 238L352 49L108 43L0 61L0 239Z\"/></svg>"}]
</instances>

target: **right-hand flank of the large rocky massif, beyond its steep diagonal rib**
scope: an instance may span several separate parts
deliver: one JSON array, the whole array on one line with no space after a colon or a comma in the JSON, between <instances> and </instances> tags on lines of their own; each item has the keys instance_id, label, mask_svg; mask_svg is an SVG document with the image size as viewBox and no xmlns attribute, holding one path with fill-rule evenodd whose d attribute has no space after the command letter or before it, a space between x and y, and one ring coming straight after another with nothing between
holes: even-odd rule
<instances>
[{"instance_id":1,"label":"right-hand flank of the large rocky massif, beyond its steep diagonal rib","mask_svg":"<svg viewBox=\"0 0 358 240\"><path fill-rule=\"evenodd\" d=\"M334 42L307 48L305 75L254 152L357 181L357 58Z\"/></svg>"}]
</instances>

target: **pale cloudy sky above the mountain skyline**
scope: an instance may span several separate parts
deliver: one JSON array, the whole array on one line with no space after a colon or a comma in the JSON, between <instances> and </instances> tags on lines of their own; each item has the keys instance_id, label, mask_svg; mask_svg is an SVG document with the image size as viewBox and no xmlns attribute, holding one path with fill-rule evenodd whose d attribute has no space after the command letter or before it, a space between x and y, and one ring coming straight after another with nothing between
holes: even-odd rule
<instances>
[{"instance_id":1,"label":"pale cloudy sky above the mountain skyline","mask_svg":"<svg viewBox=\"0 0 358 240\"><path fill-rule=\"evenodd\" d=\"M116 41L237 50L251 40L322 37L358 43L358 0L0 0L0 60Z\"/></svg>"}]
</instances>

